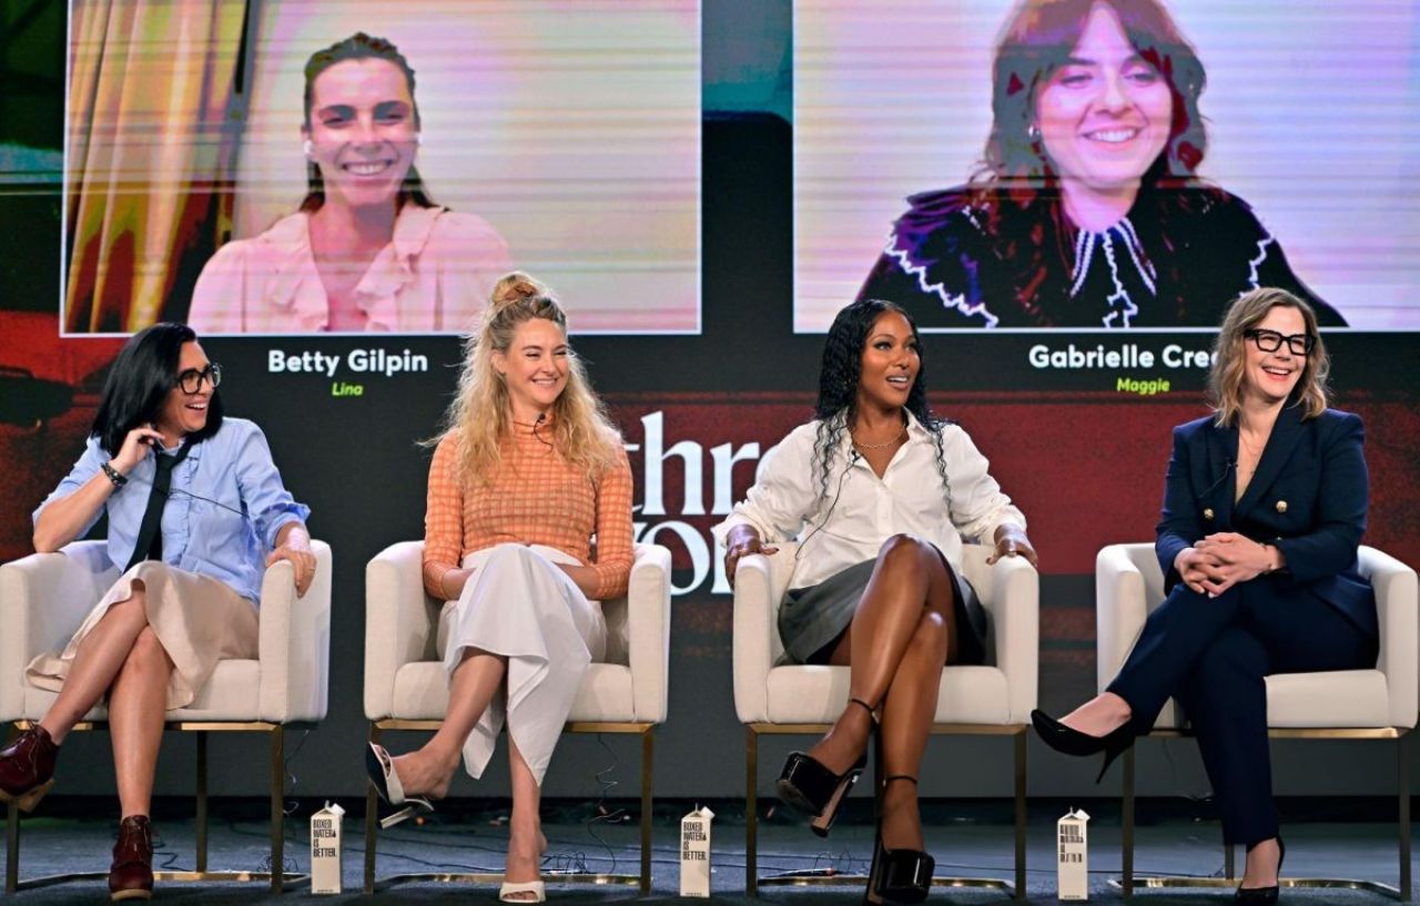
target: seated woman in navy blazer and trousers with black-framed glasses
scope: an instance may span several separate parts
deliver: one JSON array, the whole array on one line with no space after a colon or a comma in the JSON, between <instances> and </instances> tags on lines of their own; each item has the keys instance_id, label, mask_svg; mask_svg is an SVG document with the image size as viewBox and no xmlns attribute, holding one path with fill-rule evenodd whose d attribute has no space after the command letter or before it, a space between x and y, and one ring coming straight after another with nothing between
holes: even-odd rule
<instances>
[{"instance_id":1,"label":"seated woman in navy blazer and trousers with black-framed glasses","mask_svg":"<svg viewBox=\"0 0 1420 906\"><path fill-rule=\"evenodd\" d=\"M1214 413L1173 430L1154 544L1169 598L1106 692L1062 720L1032 719L1051 747L1103 751L1108 768L1177 696L1224 839L1248 848L1237 900L1272 903L1285 849L1264 677L1363 669L1377 656L1376 598L1356 569L1363 430L1358 416L1326 408L1326 348L1295 295L1240 297L1216 349Z\"/></svg>"}]
</instances>

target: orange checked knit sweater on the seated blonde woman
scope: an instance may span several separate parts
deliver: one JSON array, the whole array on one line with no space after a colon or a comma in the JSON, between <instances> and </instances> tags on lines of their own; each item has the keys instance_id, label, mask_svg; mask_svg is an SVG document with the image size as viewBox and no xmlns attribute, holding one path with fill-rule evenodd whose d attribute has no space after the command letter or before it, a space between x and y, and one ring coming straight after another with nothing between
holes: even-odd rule
<instances>
[{"instance_id":1,"label":"orange checked knit sweater on the seated blonde woman","mask_svg":"<svg viewBox=\"0 0 1420 906\"><path fill-rule=\"evenodd\" d=\"M551 446L547 423L514 423L503 463L487 484L467 487L457 474L457 443L444 437L429 466L425 511L425 589L435 598L444 572L466 554L496 544L544 544L596 569L594 599L626 594L630 579L632 476L626 452L598 481L568 466ZM540 435L540 436L538 436ZM596 562L591 561L596 535Z\"/></svg>"}]
</instances>

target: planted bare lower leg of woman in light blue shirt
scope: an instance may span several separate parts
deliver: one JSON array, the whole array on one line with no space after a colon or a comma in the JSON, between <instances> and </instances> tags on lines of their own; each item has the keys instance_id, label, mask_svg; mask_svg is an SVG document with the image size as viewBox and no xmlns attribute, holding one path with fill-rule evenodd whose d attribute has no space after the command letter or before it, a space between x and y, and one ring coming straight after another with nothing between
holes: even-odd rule
<instances>
[{"instance_id":1,"label":"planted bare lower leg of woman in light blue shirt","mask_svg":"<svg viewBox=\"0 0 1420 906\"><path fill-rule=\"evenodd\" d=\"M162 642L151 626L145 626L109 687L108 733L124 818L149 814L172 670L173 662Z\"/></svg>"}]
</instances>

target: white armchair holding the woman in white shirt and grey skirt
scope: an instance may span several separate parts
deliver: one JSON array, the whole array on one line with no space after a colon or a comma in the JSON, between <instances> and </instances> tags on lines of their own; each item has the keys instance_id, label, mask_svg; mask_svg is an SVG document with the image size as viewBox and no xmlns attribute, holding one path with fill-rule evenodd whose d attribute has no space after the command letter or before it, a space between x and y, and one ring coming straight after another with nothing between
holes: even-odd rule
<instances>
[{"instance_id":1,"label":"white armchair holding the woman in white shirt and grey skirt","mask_svg":"<svg viewBox=\"0 0 1420 906\"><path fill-rule=\"evenodd\" d=\"M784 653L778 611L794 544L744 557L734 582L734 707L746 724L746 893L757 896L758 736L824 733L848 704L848 667L775 666ZM941 672L933 733L1010 736L1015 750L1015 895L1025 896L1025 728L1037 703L1039 577L1024 558L987 565L990 550L963 548L963 572L990 615L994 663ZM876 784L875 784L876 785ZM973 879L961 879L970 882ZM980 882L978 882L980 883ZM1005 882L990 886L1007 888Z\"/></svg>"}]
</instances>

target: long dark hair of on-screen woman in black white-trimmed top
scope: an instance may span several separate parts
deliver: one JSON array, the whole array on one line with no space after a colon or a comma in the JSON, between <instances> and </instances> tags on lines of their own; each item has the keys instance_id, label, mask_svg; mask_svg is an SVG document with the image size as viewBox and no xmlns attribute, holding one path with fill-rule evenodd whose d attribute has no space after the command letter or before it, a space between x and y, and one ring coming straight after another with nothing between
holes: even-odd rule
<instances>
[{"instance_id":1,"label":"long dark hair of on-screen woman in black white-trimmed top","mask_svg":"<svg viewBox=\"0 0 1420 906\"><path fill-rule=\"evenodd\" d=\"M1045 324L1056 322L1061 312L1048 304L1042 307L1037 291L1052 283L1068 283L1079 230L1065 216L1059 175L1031 125L1039 91L1055 70L1065 65L1096 1L1115 11L1125 37L1164 80L1173 99L1169 141L1140 179L1136 204L1149 213L1135 226L1143 247L1160 254L1169 243L1159 234L1159 224L1194 213L1197 200L1177 189L1208 187L1197 178L1208 148L1198 109L1207 72L1169 10L1159 0L1021 0L997 43L991 71L991 133L971 179L970 196L985 213L987 231L1001 239L998 254L1011 263L1015 302ZM1162 284L1181 285L1172 256L1163 257L1157 264L1169 280ZM1186 310L1187 300L1173 301L1180 312Z\"/></svg>"}]
</instances>

